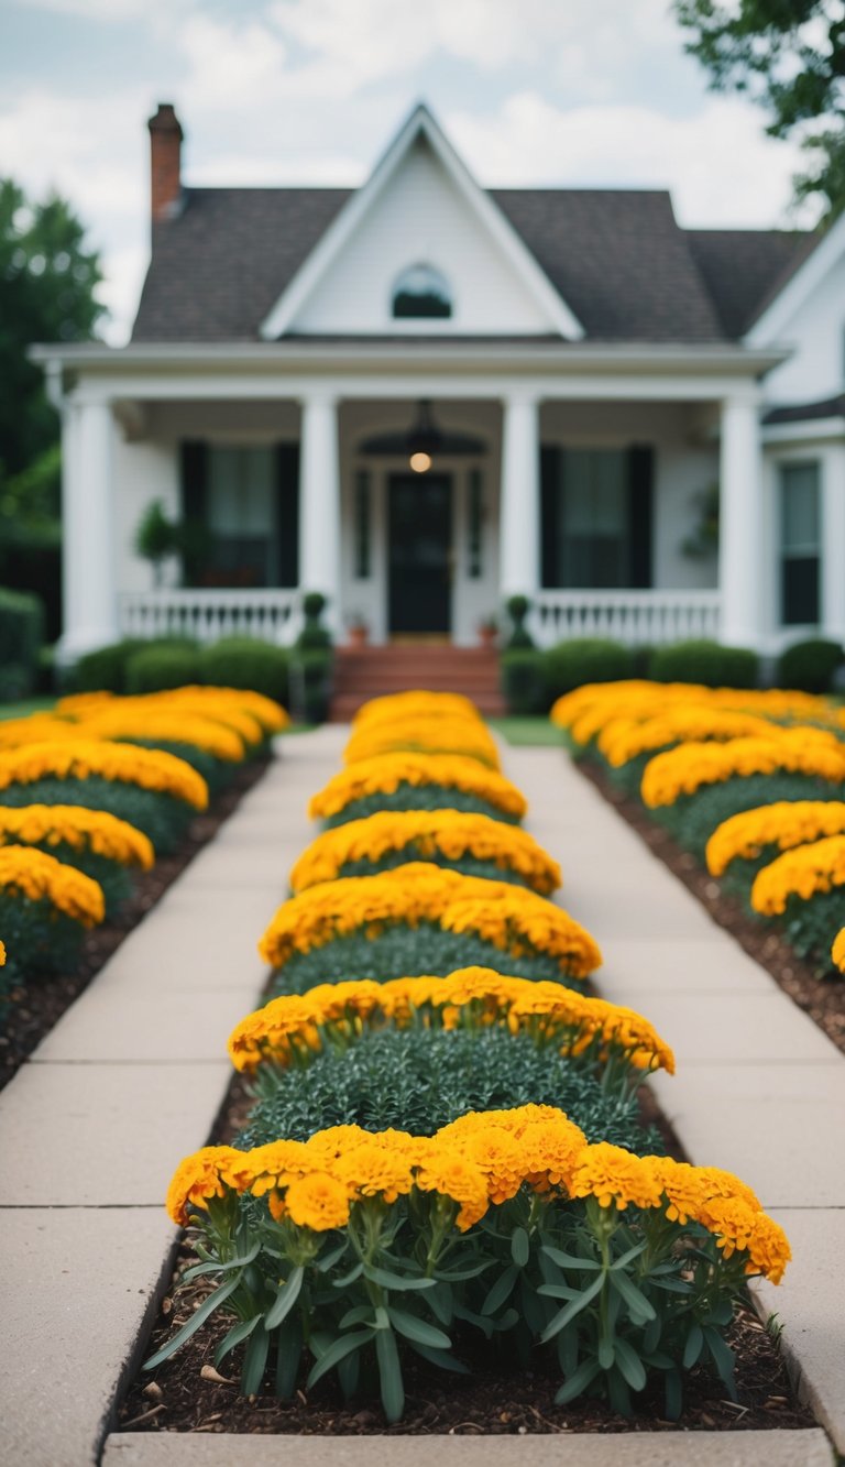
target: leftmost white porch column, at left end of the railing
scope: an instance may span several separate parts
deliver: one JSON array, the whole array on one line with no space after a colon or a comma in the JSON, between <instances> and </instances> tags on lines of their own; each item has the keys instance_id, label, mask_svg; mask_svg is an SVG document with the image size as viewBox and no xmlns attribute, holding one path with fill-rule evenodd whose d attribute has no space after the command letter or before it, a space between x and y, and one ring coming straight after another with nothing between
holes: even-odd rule
<instances>
[{"instance_id":1,"label":"leftmost white porch column, at left end of the railing","mask_svg":"<svg viewBox=\"0 0 845 1467\"><path fill-rule=\"evenodd\" d=\"M111 436L106 400L65 403L62 415L63 629L59 662L119 637Z\"/></svg>"}]
</instances>

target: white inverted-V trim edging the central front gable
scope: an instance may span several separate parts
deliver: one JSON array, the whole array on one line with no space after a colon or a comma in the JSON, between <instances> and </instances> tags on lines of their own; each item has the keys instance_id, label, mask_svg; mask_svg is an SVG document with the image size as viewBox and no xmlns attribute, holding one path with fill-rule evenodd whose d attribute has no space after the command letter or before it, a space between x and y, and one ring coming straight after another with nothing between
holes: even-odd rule
<instances>
[{"instance_id":1,"label":"white inverted-V trim edging the central front gable","mask_svg":"<svg viewBox=\"0 0 845 1467\"><path fill-rule=\"evenodd\" d=\"M509 268L521 280L535 305L540 307L549 323L549 330L559 332L560 336L569 340L579 340L584 336L584 327L568 307L566 298L553 289L543 270L538 268L533 254L525 249L524 241L500 210L496 208L491 197L478 188L475 179L464 166L424 103L414 107L411 116L376 164L367 183L346 200L320 242L288 282L273 310L261 321L261 336L266 340L276 340L290 330L299 308L318 289L320 282L342 254L345 245L402 169L411 150L421 141L430 147L442 169L464 198L465 205L477 216L489 238L505 257Z\"/></svg>"}]
</instances>

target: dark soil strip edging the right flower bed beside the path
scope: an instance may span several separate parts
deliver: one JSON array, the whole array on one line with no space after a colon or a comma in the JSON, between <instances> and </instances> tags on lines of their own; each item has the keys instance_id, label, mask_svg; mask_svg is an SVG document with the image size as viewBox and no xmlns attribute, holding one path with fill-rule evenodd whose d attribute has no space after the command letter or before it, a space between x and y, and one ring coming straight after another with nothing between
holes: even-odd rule
<instances>
[{"instance_id":1,"label":"dark soil strip edging the right flower bed beside the path","mask_svg":"<svg viewBox=\"0 0 845 1467\"><path fill-rule=\"evenodd\" d=\"M603 769L588 760L581 760L577 767L625 817L648 849L698 898L713 921L725 927L739 946L761 968L766 968L766 973L789 995L792 1002L804 1009L813 1022L827 1034L827 1039L845 1053L845 983L817 978L813 968L795 955L778 932L748 917L736 898L726 895L719 882L700 866L695 857L689 851L684 851L663 826L650 820L648 813L637 800L622 794L607 779Z\"/></svg>"}]
</instances>

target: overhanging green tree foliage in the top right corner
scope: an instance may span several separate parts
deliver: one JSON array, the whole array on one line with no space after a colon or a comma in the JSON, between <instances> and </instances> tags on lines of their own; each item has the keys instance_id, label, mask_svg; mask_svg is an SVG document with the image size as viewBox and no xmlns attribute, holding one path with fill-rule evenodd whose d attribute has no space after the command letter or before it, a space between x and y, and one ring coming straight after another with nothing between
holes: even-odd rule
<instances>
[{"instance_id":1,"label":"overhanging green tree foliage in the top right corner","mask_svg":"<svg viewBox=\"0 0 845 1467\"><path fill-rule=\"evenodd\" d=\"M675 0L687 50L717 91L745 92L772 138L794 138L807 170L795 198L845 208L845 16L838 0Z\"/></svg>"}]
</instances>

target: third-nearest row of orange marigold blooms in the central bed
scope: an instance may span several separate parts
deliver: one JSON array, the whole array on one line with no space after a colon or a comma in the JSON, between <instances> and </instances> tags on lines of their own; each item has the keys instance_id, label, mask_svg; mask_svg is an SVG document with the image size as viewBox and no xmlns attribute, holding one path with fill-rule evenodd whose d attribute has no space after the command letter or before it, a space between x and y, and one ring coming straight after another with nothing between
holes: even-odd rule
<instances>
[{"instance_id":1,"label":"third-nearest row of orange marigold blooms in the central bed","mask_svg":"<svg viewBox=\"0 0 845 1467\"><path fill-rule=\"evenodd\" d=\"M355 876L310 888L279 908L260 943L271 967L346 933L377 936L390 923L430 921L447 932L477 933L505 954L549 954L585 977L601 962L599 945L568 912L535 892L478 876L411 863L378 876Z\"/></svg>"}]
</instances>

